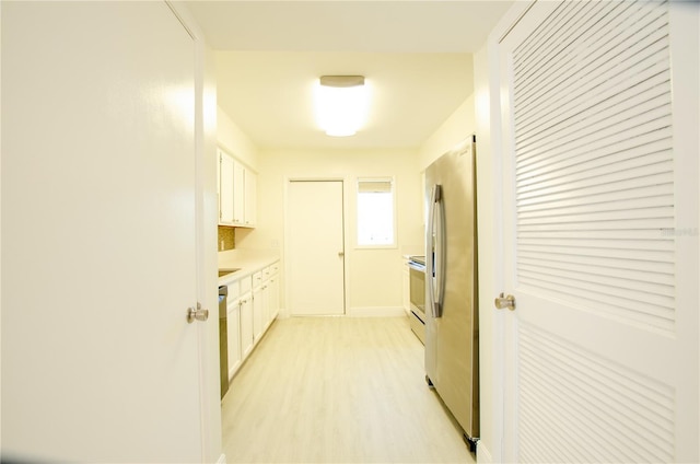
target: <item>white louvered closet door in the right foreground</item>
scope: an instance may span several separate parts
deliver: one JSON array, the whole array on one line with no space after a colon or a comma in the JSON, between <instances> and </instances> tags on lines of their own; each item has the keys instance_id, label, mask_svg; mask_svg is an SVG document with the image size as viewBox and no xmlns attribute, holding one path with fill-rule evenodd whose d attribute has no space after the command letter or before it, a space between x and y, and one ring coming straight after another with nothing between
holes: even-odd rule
<instances>
[{"instance_id":1,"label":"white louvered closet door in the right foreground","mask_svg":"<svg viewBox=\"0 0 700 464\"><path fill-rule=\"evenodd\" d=\"M688 8L539 2L499 44L504 461L700 459Z\"/></svg>"}]
</instances>

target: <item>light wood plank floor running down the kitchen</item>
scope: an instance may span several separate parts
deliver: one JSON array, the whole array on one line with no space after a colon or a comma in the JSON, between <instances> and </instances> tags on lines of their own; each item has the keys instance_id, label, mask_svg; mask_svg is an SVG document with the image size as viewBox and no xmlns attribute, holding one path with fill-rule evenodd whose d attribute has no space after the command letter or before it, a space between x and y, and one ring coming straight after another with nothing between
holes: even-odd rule
<instances>
[{"instance_id":1,"label":"light wood plank floor running down the kitchen","mask_svg":"<svg viewBox=\"0 0 700 464\"><path fill-rule=\"evenodd\" d=\"M277 321L223 404L228 463L474 463L408 320Z\"/></svg>"}]
</instances>

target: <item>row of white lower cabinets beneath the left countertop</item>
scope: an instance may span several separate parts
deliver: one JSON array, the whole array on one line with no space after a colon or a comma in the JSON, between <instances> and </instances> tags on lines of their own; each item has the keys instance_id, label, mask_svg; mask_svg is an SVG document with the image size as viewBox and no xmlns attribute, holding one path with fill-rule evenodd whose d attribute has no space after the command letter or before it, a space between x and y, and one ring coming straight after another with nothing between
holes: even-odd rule
<instances>
[{"instance_id":1,"label":"row of white lower cabinets beneath the left countertop","mask_svg":"<svg viewBox=\"0 0 700 464\"><path fill-rule=\"evenodd\" d=\"M279 262L229 285L229 379L277 318L279 306Z\"/></svg>"}]
</instances>

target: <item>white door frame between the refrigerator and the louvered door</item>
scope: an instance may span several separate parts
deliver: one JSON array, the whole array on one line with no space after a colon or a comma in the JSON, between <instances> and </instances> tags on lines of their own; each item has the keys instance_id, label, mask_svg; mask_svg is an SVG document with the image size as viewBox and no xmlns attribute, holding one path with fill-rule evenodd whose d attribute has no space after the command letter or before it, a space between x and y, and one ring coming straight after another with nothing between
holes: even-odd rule
<instances>
[{"instance_id":1,"label":"white door frame between the refrigerator and the louvered door","mask_svg":"<svg viewBox=\"0 0 700 464\"><path fill-rule=\"evenodd\" d=\"M499 43L533 7L535 0L515 2L491 31L475 55L477 150L477 228L479 236L479 366L481 392L481 440L477 462L503 462L505 344L509 334L505 314L495 311L493 300L504 286L502 229L503 177L501 148L501 100Z\"/></svg>"}]
</instances>

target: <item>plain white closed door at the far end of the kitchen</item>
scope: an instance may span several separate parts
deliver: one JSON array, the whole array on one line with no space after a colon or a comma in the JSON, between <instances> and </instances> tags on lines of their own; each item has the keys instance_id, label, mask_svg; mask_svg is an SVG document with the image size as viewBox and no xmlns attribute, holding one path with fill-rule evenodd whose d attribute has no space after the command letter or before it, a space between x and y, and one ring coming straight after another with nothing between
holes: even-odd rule
<instances>
[{"instance_id":1,"label":"plain white closed door at the far end of the kitchen","mask_svg":"<svg viewBox=\"0 0 700 464\"><path fill-rule=\"evenodd\" d=\"M287 211L290 313L345 314L342 181L290 182Z\"/></svg>"}]
</instances>

